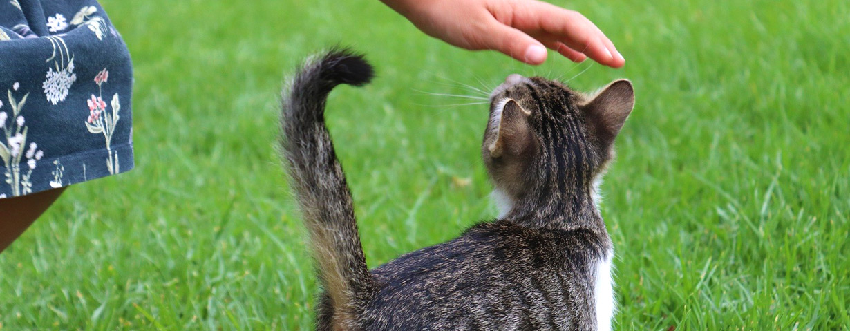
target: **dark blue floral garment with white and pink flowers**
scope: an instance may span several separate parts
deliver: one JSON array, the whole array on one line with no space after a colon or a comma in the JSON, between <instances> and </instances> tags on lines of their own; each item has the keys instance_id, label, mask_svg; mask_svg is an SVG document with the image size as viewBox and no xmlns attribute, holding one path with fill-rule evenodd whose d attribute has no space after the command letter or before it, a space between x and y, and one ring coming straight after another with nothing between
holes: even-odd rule
<instances>
[{"instance_id":1,"label":"dark blue floral garment with white and pink flowers","mask_svg":"<svg viewBox=\"0 0 850 331\"><path fill-rule=\"evenodd\" d=\"M0 198L133 168L127 45L94 0L0 0Z\"/></svg>"}]
</instances>

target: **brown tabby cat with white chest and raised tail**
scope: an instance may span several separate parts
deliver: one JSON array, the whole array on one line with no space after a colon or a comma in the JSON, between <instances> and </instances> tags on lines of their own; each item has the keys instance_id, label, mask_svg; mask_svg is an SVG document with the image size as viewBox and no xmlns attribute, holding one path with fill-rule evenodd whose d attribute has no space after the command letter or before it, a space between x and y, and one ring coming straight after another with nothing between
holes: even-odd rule
<instances>
[{"instance_id":1,"label":"brown tabby cat with white chest and raised tail","mask_svg":"<svg viewBox=\"0 0 850 331\"><path fill-rule=\"evenodd\" d=\"M331 49L283 91L280 144L324 288L316 329L611 329L614 251L596 191L634 106L632 83L581 94L508 76L490 95L481 149L502 214L370 271L325 104L338 84L373 76L362 55Z\"/></svg>"}]
</instances>

